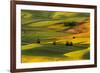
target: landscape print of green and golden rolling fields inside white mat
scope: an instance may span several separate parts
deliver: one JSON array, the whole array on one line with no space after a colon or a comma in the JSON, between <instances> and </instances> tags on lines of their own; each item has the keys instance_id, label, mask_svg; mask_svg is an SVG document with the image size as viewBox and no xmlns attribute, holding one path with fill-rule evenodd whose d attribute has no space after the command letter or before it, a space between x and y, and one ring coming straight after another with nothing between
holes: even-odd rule
<instances>
[{"instance_id":1,"label":"landscape print of green and golden rolling fields inside white mat","mask_svg":"<svg viewBox=\"0 0 100 73\"><path fill-rule=\"evenodd\" d=\"M21 10L21 62L90 59L90 13Z\"/></svg>"}]
</instances>

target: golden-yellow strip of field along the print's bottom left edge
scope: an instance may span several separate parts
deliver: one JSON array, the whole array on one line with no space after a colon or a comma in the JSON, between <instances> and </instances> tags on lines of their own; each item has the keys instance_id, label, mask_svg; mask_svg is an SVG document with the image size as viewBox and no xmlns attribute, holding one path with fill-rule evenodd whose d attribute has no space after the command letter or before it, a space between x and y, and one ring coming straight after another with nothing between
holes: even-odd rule
<instances>
[{"instance_id":1,"label":"golden-yellow strip of field along the print's bottom left edge","mask_svg":"<svg viewBox=\"0 0 100 73\"><path fill-rule=\"evenodd\" d=\"M44 61L45 60L45 61ZM27 56L22 55L22 63L64 61L65 57Z\"/></svg>"}]
</instances>

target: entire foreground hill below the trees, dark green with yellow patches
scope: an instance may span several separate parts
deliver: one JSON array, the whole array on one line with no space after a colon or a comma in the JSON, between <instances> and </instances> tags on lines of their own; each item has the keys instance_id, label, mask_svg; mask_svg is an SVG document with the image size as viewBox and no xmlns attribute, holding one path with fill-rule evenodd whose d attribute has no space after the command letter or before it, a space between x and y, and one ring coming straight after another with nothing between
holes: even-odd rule
<instances>
[{"instance_id":1,"label":"entire foreground hill below the trees, dark green with yellow patches","mask_svg":"<svg viewBox=\"0 0 100 73\"><path fill-rule=\"evenodd\" d=\"M41 47L33 47L31 49L22 50L22 62L46 62L46 61L66 61L89 59L87 52L88 44L80 46L65 45L44 45ZM87 55L87 56L85 56Z\"/></svg>"}]
</instances>

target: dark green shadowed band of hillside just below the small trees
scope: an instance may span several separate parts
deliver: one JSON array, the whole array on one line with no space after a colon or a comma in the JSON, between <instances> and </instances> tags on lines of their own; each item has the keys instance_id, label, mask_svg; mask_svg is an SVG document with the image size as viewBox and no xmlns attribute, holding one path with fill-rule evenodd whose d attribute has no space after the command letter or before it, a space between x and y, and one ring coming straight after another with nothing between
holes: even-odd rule
<instances>
[{"instance_id":1,"label":"dark green shadowed band of hillside just below the small trees","mask_svg":"<svg viewBox=\"0 0 100 73\"><path fill-rule=\"evenodd\" d=\"M64 53L83 50L89 47L89 44L79 44L78 46L66 46L64 44L52 45L47 44L42 47L22 50L22 55L28 56L49 56L49 57L64 57Z\"/></svg>"}]
</instances>

